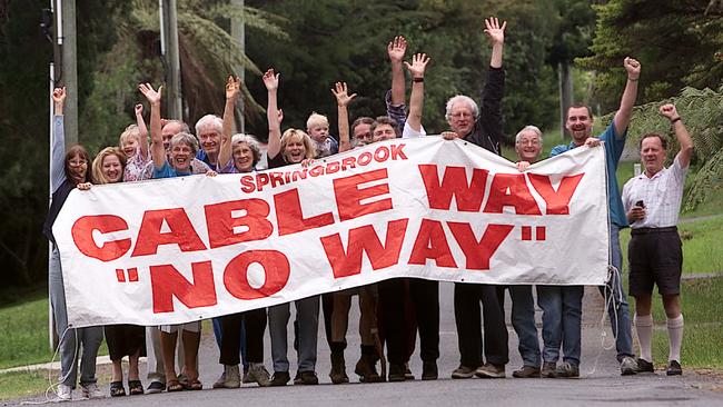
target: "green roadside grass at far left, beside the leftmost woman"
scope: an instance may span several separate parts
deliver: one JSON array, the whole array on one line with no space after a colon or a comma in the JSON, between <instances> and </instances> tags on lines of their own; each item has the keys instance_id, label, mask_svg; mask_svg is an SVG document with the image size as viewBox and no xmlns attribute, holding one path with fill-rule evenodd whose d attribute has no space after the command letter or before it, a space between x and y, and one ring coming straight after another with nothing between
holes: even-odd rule
<instances>
[{"instance_id":1,"label":"green roadside grass at far left, beside the leftmost woman","mask_svg":"<svg viewBox=\"0 0 723 407\"><path fill-rule=\"evenodd\" d=\"M0 308L0 369L49 363L48 292L33 291ZM98 355L108 355L103 341Z\"/></svg>"}]
</instances>

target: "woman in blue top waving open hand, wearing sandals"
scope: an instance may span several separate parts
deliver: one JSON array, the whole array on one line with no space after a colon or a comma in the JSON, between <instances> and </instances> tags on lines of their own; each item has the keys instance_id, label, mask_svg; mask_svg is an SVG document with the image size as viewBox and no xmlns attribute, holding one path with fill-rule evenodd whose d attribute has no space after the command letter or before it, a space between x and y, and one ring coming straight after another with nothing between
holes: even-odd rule
<instances>
[{"instance_id":1,"label":"woman in blue top waving open hand, wearing sandals","mask_svg":"<svg viewBox=\"0 0 723 407\"><path fill-rule=\"evenodd\" d=\"M150 138L151 157L153 158L152 178L172 178L191 175L191 160L196 157L198 145L196 138L187 132L179 132L170 139L170 159L166 158L160 123L161 88L156 91L150 83L141 83L138 89L150 103ZM208 175L216 172L209 171ZM181 385L176 375L176 343L178 331L184 338L184 369L188 383ZM164 354L164 370L168 391L200 390L204 385L198 380L198 345L201 338L201 322L192 321L180 325L164 325L160 327L160 346Z\"/></svg>"}]
</instances>

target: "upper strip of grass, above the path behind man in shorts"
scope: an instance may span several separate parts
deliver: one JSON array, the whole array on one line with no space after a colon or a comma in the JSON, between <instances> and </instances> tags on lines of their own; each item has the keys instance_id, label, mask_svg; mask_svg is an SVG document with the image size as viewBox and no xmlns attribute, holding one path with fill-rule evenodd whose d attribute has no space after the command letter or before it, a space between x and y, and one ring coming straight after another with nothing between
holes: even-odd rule
<instances>
[{"instance_id":1,"label":"upper strip of grass, above the path behind man in shorts","mask_svg":"<svg viewBox=\"0 0 723 407\"><path fill-rule=\"evenodd\" d=\"M684 275L723 272L723 250L719 249L723 241L723 216L679 224L677 229L681 236L689 237L683 240ZM630 270L627 266L630 228L621 231L620 242L625 269Z\"/></svg>"}]
</instances>

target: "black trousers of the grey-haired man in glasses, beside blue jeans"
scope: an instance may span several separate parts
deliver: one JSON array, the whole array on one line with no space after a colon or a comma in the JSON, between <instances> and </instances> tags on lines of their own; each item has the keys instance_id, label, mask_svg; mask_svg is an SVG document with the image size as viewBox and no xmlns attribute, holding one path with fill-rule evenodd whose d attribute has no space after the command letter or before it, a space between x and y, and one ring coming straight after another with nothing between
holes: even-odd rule
<instances>
[{"instance_id":1,"label":"black trousers of the grey-haired man in glasses, beside blue jeans","mask_svg":"<svg viewBox=\"0 0 723 407\"><path fill-rule=\"evenodd\" d=\"M459 363L476 368L483 365L482 353L488 364L505 365L509 361L507 327L499 297L504 286L455 282L455 322L459 345ZM484 317L484 341L482 337Z\"/></svg>"}]
</instances>

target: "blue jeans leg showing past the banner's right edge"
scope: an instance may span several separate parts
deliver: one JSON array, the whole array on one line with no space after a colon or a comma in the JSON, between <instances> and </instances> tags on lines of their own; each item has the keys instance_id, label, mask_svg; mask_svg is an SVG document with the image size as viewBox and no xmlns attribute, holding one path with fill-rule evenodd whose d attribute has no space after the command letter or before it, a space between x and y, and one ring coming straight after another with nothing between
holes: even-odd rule
<instances>
[{"instance_id":1,"label":"blue jeans leg showing past the banner's right edge","mask_svg":"<svg viewBox=\"0 0 723 407\"><path fill-rule=\"evenodd\" d=\"M610 322L615 336L615 346L617 348L617 361L622 361L624 357L634 357L633 354L633 331L631 328L630 306L627 305L627 296L623 289L621 275L623 272L623 254L620 248L620 226L615 224L610 225L610 248L613 266L620 271L618 275L607 281L607 285L600 286L600 294L607 297L613 296L610 301L607 314L610 315ZM617 321L617 324L615 324Z\"/></svg>"}]
</instances>

